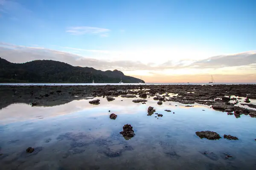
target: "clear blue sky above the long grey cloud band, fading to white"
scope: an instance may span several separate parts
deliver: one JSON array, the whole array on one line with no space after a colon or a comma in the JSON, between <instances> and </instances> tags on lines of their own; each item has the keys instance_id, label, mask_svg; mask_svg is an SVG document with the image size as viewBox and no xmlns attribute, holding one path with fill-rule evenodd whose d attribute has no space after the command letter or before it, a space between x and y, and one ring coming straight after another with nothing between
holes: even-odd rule
<instances>
[{"instance_id":1,"label":"clear blue sky above the long grey cloud band, fading to white","mask_svg":"<svg viewBox=\"0 0 256 170\"><path fill-rule=\"evenodd\" d=\"M254 0L0 0L0 42L100 60L197 61L256 50L255 9Z\"/></svg>"}]
</instances>

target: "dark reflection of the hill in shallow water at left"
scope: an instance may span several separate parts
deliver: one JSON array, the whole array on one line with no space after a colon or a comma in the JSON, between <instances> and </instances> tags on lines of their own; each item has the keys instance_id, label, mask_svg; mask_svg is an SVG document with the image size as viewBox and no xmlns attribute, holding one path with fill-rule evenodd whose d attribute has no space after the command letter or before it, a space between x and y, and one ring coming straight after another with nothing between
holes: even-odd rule
<instances>
[{"instance_id":1,"label":"dark reflection of the hill in shallow water at left","mask_svg":"<svg viewBox=\"0 0 256 170\"><path fill-rule=\"evenodd\" d=\"M57 92L58 91L58 92ZM72 92L71 92L72 91ZM29 87L1 87L0 88L0 109L14 103L31 104L33 101L39 102L36 106L51 107L64 105L73 100L91 99L93 96L87 92L76 91L73 88L29 88Z\"/></svg>"}]
</instances>

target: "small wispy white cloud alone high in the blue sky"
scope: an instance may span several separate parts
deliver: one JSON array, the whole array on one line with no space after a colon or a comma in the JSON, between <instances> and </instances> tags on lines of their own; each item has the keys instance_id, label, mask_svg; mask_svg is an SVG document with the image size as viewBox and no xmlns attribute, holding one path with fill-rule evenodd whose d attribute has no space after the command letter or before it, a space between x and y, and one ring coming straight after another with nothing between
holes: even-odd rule
<instances>
[{"instance_id":1,"label":"small wispy white cloud alone high in the blue sky","mask_svg":"<svg viewBox=\"0 0 256 170\"><path fill-rule=\"evenodd\" d=\"M110 29L107 28L97 28L88 26L69 27L66 30L66 32L69 32L72 35L96 34L101 37L108 37L109 31Z\"/></svg>"}]
</instances>

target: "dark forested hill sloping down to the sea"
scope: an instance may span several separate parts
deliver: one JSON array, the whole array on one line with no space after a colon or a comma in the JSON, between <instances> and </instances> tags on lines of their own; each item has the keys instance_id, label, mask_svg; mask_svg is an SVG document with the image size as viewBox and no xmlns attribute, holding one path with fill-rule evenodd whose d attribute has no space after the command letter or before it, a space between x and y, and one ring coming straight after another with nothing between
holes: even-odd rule
<instances>
[{"instance_id":1,"label":"dark forested hill sloping down to the sea","mask_svg":"<svg viewBox=\"0 0 256 170\"><path fill-rule=\"evenodd\" d=\"M0 82L51 83L137 83L140 79L125 76L121 71L101 71L89 67L75 67L53 60L12 63L0 58ZM144 81L142 81L144 82Z\"/></svg>"}]
</instances>

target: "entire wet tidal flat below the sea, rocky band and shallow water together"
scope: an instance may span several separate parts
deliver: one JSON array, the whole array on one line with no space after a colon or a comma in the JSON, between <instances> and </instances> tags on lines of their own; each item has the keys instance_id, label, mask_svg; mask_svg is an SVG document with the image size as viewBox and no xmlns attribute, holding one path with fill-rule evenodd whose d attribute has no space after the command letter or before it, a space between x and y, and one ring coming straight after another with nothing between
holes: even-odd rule
<instances>
[{"instance_id":1,"label":"entire wet tidal flat below the sea, rocky band and shallow water together","mask_svg":"<svg viewBox=\"0 0 256 170\"><path fill-rule=\"evenodd\" d=\"M0 86L0 167L255 169L256 119L250 113L256 109L241 105L248 104L247 99L250 106L256 105L255 89L256 85ZM135 97L127 98L131 95ZM89 103L96 99L98 105ZM212 108L220 103L223 109ZM149 106L156 111L148 114ZM227 115L227 108L239 117ZM111 113L116 119L110 119ZM127 123L135 133L129 140L119 134ZM202 130L222 138L200 139L195 132ZM224 139L225 134L239 140ZM35 151L26 153L28 147Z\"/></svg>"}]
</instances>

